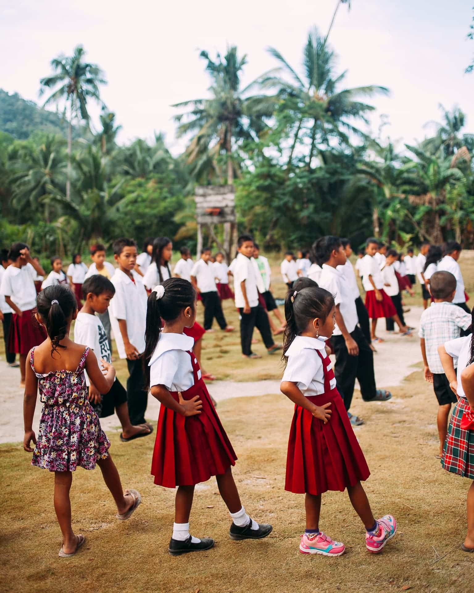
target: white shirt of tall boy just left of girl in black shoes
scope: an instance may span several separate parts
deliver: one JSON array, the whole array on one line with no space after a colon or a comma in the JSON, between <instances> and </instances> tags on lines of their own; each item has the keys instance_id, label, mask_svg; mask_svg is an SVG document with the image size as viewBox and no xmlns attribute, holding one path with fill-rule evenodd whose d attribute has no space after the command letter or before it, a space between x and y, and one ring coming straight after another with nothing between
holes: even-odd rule
<instances>
[{"instance_id":1,"label":"white shirt of tall boy just left of girl in black shoes","mask_svg":"<svg viewBox=\"0 0 474 593\"><path fill-rule=\"evenodd\" d=\"M142 276L133 270L132 275L134 282L126 273L117 268L111 279L115 286L115 294L110 301L108 314L120 358L127 358L127 355L120 333L119 319L124 319L127 322L130 344L135 346L140 354L145 351L146 290L143 286Z\"/></svg>"}]
</instances>

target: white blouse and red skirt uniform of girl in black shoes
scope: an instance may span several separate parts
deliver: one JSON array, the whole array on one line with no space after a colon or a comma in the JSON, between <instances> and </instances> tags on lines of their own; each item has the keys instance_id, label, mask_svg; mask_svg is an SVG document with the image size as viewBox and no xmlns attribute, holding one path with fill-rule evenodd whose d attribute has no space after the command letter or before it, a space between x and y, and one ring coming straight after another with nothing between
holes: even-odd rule
<instances>
[{"instance_id":1,"label":"white blouse and red skirt uniform of girl in black shoes","mask_svg":"<svg viewBox=\"0 0 474 593\"><path fill-rule=\"evenodd\" d=\"M165 385L176 401L179 391L185 400L198 396L203 403L199 415L188 417L160 407L151 473L155 484L167 488L206 482L237 459L192 348L193 339L184 334L161 333L149 362L150 387Z\"/></svg>"}]
</instances>

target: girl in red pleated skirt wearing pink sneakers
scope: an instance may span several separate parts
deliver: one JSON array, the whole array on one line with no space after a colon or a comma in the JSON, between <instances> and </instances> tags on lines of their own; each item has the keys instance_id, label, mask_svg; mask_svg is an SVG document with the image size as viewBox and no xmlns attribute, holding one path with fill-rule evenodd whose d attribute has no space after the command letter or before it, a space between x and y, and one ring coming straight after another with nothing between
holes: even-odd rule
<instances>
[{"instance_id":1,"label":"girl in red pleated skirt wearing pink sneakers","mask_svg":"<svg viewBox=\"0 0 474 593\"><path fill-rule=\"evenodd\" d=\"M396 521L392 515L376 521L361 486L361 481L370 475L369 467L325 352L325 340L334 331L334 298L316 286L300 291L290 289L285 316L283 360L286 369L280 388L295 404L285 490L306 494L306 530L300 552L323 556L344 553L342 542L332 540L319 530L319 514L324 492L347 489L354 510L366 528L367 550L377 553L395 535Z\"/></svg>"}]
</instances>

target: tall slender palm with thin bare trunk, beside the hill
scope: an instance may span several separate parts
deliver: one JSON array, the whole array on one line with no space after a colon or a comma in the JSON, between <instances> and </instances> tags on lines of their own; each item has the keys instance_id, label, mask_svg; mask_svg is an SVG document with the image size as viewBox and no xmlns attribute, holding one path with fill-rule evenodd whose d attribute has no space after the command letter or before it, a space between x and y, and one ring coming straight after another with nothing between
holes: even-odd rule
<instances>
[{"instance_id":1,"label":"tall slender palm with thin bare trunk, beside the hill","mask_svg":"<svg viewBox=\"0 0 474 593\"><path fill-rule=\"evenodd\" d=\"M87 102L90 99L102 103L99 85L107 84L103 71L90 62L84 62L84 48L78 45L72 56L60 55L51 60L54 74L40 79L40 97L46 89L55 89L44 101L43 106L66 102L68 114L68 179L66 197L71 193L71 152L72 152L72 121L73 119L89 122Z\"/></svg>"}]
</instances>

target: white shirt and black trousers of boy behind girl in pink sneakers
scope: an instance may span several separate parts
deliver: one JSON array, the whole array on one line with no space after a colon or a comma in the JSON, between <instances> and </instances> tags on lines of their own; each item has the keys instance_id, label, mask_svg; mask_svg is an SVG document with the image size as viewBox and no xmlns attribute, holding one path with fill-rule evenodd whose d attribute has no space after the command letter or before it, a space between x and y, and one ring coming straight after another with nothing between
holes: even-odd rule
<instances>
[{"instance_id":1,"label":"white shirt and black trousers of boy behind girl in pink sneakers","mask_svg":"<svg viewBox=\"0 0 474 593\"><path fill-rule=\"evenodd\" d=\"M332 347L336 355L334 373L337 384L340 386L342 394L344 394L345 409L349 410L354 395L356 378L359 381L360 391L364 401L373 400L377 395L373 352L370 349L369 342L367 342L360 327L357 325L358 316L357 308L355 307L354 286L351 286L340 270L327 264L322 264L319 286L326 289L334 297L334 304L339 306L345 329L347 329L359 347L357 356L350 355L345 345L345 338L342 335L342 331L336 324L331 338Z\"/></svg>"}]
</instances>

